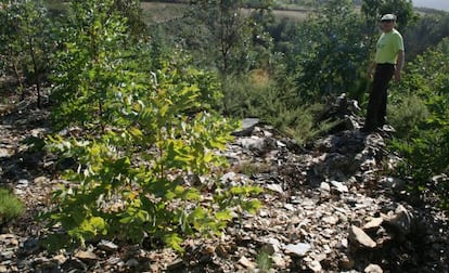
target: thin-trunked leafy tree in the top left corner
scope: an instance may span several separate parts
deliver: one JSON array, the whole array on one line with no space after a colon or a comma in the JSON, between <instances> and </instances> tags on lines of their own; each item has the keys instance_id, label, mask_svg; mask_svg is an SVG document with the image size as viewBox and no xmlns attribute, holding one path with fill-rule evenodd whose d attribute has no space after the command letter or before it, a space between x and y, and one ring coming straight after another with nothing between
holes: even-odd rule
<instances>
[{"instance_id":1,"label":"thin-trunked leafy tree in the top left corner","mask_svg":"<svg viewBox=\"0 0 449 273\"><path fill-rule=\"evenodd\" d=\"M0 2L0 57L8 74L14 75L24 99L26 82L36 86L40 106L41 78L49 70L51 22L41 1Z\"/></svg>"}]
</instances>

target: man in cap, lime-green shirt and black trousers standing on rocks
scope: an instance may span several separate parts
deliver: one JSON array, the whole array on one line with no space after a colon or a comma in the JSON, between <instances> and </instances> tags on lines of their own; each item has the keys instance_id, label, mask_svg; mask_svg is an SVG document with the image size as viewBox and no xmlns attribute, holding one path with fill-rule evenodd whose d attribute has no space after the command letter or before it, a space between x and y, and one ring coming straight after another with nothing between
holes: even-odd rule
<instances>
[{"instance_id":1,"label":"man in cap, lime-green shirt and black trousers standing on rocks","mask_svg":"<svg viewBox=\"0 0 449 273\"><path fill-rule=\"evenodd\" d=\"M396 15L385 14L381 18L383 34L377 40L374 62L371 64L368 75L374 73L374 82L368 103L367 119L363 132L373 132L385 125L388 82L395 76L395 80L401 79L403 66L403 40L395 29Z\"/></svg>"}]
</instances>

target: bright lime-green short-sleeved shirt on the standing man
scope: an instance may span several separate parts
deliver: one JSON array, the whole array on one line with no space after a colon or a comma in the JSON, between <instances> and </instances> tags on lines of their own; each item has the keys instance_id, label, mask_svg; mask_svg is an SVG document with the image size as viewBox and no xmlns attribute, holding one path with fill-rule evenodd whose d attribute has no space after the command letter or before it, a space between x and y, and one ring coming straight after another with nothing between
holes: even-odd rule
<instances>
[{"instance_id":1,"label":"bright lime-green short-sleeved shirt on the standing man","mask_svg":"<svg viewBox=\"0 0 449 273\"><path fill-rule=\"evenodd\" d=\"M376 64L396 64L399 51L403 51L402 36L393 29L379 38L374 61Z\"/></svg>"}]
</instances>

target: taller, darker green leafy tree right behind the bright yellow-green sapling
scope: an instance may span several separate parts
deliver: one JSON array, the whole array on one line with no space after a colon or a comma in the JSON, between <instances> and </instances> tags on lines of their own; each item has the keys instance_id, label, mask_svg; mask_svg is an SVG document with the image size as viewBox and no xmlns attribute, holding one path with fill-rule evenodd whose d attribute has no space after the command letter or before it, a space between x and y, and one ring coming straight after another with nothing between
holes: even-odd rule
<instances>
[{"instance_id":1,"label":"taller, darker green leafy tree right behind the bright yellow-green sapling","mask_svg":"<svg viewBox=\"0 0 449 273\"><path fill-rule=\"evenodd\" d=\"M56 128L89 125L104 129L105 125L126 122L117 118L120 104L147 95L144 86L149 74L167 89L182 90L196 82L202 107L192 103L185 109L192 114L217 104L218 84L208 84L214 82L214 74L187 65L191 60L183 52L162 51L163 44L156 41L128 44L126 20L115 9L112 0L70 5L61 34L63 48L54 60L52 114ZM162 73L152 73L157 69Z\"/></svg>"}]
</instances>

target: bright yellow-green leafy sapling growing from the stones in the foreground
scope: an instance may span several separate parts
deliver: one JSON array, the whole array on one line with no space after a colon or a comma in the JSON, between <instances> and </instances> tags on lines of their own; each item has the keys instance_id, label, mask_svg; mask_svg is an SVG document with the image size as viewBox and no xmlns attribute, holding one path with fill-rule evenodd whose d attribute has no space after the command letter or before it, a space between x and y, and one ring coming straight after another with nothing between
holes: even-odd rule
<instances>
[{"instance_id":1,"label":"bright yellow-green leafy sapling growing from the stones in the foreground","mask_svg":"<svg viewBox=\"0 0 449 273\"><path fill-rule=\"evenodd\" d=\"M179 179L221 166L213 151L223 147L235 127L203 112L183 115L197 104L197 88L153 84L150 98L123 106L134 126L82 141L49 139L51 151L76 158L80 167L67 171L74 184L55 193L59 207L44 218L61 222L78 243L116 234L142 243L151 236L181 250L181 234L217 234L231 220L232 206L257 208L245 199L254 192L249 187L220 193L227 206L220 203L218 210L207 203L192 207L200 192Z\"/></svg>"}]
</instances>

